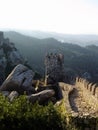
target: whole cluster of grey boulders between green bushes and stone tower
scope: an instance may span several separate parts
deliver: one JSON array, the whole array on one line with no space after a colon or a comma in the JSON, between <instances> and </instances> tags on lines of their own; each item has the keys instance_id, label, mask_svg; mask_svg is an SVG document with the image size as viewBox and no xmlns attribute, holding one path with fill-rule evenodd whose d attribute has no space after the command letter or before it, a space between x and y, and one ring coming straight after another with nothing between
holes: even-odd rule
<instances>
[{"instance_id":1,"label":"whole cluster of grey boulders between green bushes and stone tower","mask_svg":"<svg viewBox=\"0 0 98 130\"><path fill-rule=\"evenodd\" d=\"M1 85L0 92L5 97L7 96L10 102L24 93L27 95L27 99L33 104L37 101L41 105L47 103L49 100L54 102L55 91L52 88L43 86L44 89L40 89L39 92L39 89L36 89L36 84L33 86L34 74L28 67L18 64Z\"/></svg>"}]
</instances>

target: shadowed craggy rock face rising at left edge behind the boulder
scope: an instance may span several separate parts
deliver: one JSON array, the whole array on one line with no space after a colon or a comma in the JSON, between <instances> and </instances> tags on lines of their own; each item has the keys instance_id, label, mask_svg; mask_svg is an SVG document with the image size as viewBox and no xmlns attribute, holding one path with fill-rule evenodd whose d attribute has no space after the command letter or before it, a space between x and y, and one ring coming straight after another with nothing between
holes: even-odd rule
<instances>
[{"instance_id":1,"label":"shadowed craggy rock face rising at left edge behind the boulder","mask_svg":"<svg viewBox=\"0 0 98 130\"><path fill-rule=\"evenodd\" d=\"M24 58L15 48L14 43L11 43L8 38L4 38L3 32L0 32L0 85L5 79L7 66L14 67L19 63L25 64Z\"/></svg>"}]
</instances>

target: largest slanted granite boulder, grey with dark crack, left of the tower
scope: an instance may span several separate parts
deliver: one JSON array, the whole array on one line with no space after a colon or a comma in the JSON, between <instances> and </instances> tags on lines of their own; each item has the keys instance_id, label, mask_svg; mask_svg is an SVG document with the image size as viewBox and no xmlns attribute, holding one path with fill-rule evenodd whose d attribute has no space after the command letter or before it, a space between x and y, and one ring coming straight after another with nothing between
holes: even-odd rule
<instances>
[{"instance_id":1,"label":"largest slanted granite boulder, grey with dark crack, left of the tower","mask_svg":"<svg viewBox=\"0 0 98 130\"><path fill-rule=\"evenodd\" d=\"M17 91L23 93L24 91L31 91L32 80L34 72L28 67L19 64L9 74L6 80L0 87L0 91Z\"/></svg>"}]
</instances>

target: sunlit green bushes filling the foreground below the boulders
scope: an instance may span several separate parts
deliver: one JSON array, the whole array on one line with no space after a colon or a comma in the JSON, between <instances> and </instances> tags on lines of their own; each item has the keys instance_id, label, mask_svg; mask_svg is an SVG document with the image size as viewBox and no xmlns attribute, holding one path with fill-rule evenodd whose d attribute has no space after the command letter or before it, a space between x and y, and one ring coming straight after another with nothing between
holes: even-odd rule
<instances>
[{"instance_id":1,"label":"sunlit green bushes filling the foreground below the boulders","mask_svg":"<svg viewBox=\"0 0 98 130\"><path fill-rule=\"evenodd\" d=\"M31 104L25 95L9 102L0 94L0 130L65 130L68 125L62 104L55 107L52 102L41 106L37 102Z\"/></svg>"}]
</instances>

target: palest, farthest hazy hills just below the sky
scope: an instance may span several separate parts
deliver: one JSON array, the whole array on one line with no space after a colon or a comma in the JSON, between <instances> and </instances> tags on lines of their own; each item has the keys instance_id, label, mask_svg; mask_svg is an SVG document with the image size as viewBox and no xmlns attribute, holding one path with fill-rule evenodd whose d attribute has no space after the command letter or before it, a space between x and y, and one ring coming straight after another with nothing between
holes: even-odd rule
<instances>
[{"instance_id":1,"label":"palest, farthest hazy hills just below the sky","mask_svg":"<svg viewBox=\"0 0 98 130\"><path fill-rule=\"evenodd\" d=\"M93 34L62 34L55 32L30 31L30 30L17 30L17 32L39 39L55 38L56 40L61 42L78 44L80 46L87 46L91 44L98 45L98 35Z\"/></svg>"}]
</instances>

